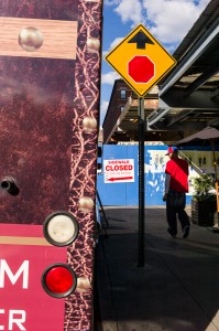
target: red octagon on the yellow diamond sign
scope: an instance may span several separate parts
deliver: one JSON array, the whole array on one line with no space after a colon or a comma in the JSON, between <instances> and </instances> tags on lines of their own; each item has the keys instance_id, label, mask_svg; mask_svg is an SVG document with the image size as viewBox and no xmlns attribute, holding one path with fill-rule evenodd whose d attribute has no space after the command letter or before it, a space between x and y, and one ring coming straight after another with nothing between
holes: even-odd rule
<instances>
[{"instance_id":1,"label":"red octagon on the yellow diamond sign","mask_svg":"<svg viewBox=\"0 0 219 331\"><path fill-rule=\"evenodd\" d=\"M154 63L147 56L135 55L128 64L128 73L136 83L149 83L154 77Z\"/></svg>"}]
</instances>

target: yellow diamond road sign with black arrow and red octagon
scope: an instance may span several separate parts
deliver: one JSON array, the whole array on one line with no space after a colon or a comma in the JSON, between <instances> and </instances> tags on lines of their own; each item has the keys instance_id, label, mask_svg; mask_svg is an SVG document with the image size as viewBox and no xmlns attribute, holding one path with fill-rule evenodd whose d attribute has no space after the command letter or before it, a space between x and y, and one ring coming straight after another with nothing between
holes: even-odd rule
<instances>
[{"instance_id":1,"label":"yellow diamond road sign with black arrow and red octagon","mask_svg":"<svg viewBox=\"0 0 219 331\"><path fill-rule=\"evenodd\" d=\"M175 58L142 24L132 30L106 61L140 97L176 65Z\"/></svg>"}]
</instances>

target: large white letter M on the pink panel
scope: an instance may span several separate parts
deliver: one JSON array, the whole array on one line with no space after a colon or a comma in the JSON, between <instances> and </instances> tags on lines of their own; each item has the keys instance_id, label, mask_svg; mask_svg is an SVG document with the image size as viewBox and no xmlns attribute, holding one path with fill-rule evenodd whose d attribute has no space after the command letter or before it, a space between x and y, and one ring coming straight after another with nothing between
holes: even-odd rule
<instances>
[{"instance_id":1,"label":"large white letter M on the pink panel","mask_svg":"<svg viewBox=\"0 0 219 331\"><path fill-rule=\"evenodd\" d=\"M4 288L6 274L8 275L8 278L12 285L14 285L22 275L22 288L24 289L29 287L29 260L24 260L15 275L13 275L6 259L0 259L0 288Z\"/></svg>"}]
</instances>

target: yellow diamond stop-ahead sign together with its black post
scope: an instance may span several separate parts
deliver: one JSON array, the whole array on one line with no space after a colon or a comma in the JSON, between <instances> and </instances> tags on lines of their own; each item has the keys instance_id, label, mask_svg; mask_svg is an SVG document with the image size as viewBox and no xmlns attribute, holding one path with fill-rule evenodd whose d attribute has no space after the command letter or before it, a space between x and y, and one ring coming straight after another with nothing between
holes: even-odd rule
<instances>
[{"instance_id":1,"label":"yellow diamond stop-ahead sign together with its black post","mask_svg":"<svg viewBox=\"0 0 219 331\"><path fill-rule=\"evenodd\" d=\"M144 266L144 96L176 65L176 60L142 24L106 61L139 96L139 267Z\"/></svg>"}]
</instances>

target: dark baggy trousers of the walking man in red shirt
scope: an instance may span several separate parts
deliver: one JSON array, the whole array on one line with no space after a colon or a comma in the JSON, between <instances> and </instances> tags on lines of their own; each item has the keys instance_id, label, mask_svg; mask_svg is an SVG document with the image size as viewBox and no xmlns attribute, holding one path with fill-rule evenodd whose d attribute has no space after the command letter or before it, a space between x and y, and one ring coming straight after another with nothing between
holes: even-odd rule
<instances>
[{"instance_id":1,"label":"dark baggy trousers of the walking man in red shirt","mask_svg":"<svg viewBox=\"0 0 219 331\"><path fill-rule=\"evenodd\" d=\"M178 221L180 223L182 229L184 229L185 226L190 226L189 217L185 212L185 206L186 194L184 192L169 190L166 200L166 218L168 227L173 235L177 234L176 214L178 214Z\"/></svg>"}]
</instances>

